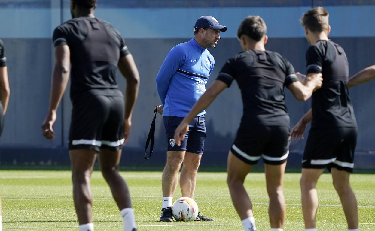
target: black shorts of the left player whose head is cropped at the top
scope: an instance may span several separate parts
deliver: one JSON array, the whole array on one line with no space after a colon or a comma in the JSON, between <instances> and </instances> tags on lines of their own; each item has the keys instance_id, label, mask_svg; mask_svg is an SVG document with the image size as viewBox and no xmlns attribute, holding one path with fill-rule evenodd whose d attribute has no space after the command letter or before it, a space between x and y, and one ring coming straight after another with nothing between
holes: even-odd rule
<instances>
[{"instance_id":1,"label":"black shorts of the left player whose head is cropped at the top","mask_svg":"<svg viewBox=\"0 0 375 231\"><path fill-rule=\"evenodd\" d=\"M69 150L118 151L124 143L124 97L92 95L75 101Z\"/></svg>"}]
</instances>

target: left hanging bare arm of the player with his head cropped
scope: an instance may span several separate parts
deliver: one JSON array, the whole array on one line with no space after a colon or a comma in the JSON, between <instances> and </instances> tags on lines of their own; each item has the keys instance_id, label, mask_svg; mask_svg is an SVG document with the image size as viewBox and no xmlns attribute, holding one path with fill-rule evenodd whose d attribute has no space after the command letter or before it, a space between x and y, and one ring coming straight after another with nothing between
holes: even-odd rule
<instances>
[{"instance_id":1,"label":"left hanging bare arm of the player with his head cropped","mask_svg":"<svg viewBox=\"0 0 375 231\"><path fill-rule=\"evenodd\" d=\"M60 100L68 85L70 72L70 50L68 45L59 45L55 47L55 67L52 73L51 93L49 95L49 106L46 118L42 124L42 134L47 139L55 138L55 132L52 129L56 121L56 110Z\"/></svg>"}]
</instances>

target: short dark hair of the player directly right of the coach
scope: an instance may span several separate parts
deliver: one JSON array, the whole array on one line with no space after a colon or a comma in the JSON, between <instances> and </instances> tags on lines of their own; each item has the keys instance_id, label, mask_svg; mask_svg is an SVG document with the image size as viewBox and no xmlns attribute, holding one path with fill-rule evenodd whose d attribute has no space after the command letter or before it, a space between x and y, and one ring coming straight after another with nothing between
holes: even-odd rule
<instances>
[{"instance_id":1,"label":"short dark hair of the player directly right of the coach","mask_svg":"<svg viewBox=\"0 0 375 231\"><path fill-rule=\"evenodd\" d=\"M266 32L266 22L260 16L250 15L241 22L237 31L237 37L240 38L242 35L247 35L251 39L259 41Z\"/></svg>"}]
</instances>

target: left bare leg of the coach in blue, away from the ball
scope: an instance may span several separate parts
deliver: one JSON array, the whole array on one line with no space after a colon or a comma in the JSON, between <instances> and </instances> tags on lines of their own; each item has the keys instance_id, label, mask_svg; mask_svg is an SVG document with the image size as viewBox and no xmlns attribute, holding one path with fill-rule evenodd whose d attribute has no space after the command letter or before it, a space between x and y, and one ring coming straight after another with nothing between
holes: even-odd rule
<instances>
[{"instance_id":1,"label":"left bare leg of the coach in blue, away from the ball","mask_svg":"<svg viewBox=\"0 0 375 231\"><path fill-rule=\"evenodd\" d=\"M173 197L178 184L178 171L186 151L168 151L162 176L163 197Z\"/></svg>"}]
</instances>

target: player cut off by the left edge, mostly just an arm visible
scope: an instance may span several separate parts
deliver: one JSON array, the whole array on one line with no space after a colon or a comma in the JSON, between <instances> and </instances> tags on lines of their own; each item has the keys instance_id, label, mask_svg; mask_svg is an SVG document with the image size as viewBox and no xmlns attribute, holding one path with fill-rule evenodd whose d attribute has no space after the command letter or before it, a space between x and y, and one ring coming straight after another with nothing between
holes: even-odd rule
<instances>
[{"instance_id":1,"label":"player cut off by the left edge, mostly just an arm visible","mask_svg":"<svg viewBox=\"0 0 375 231\"><path fill-rule=\"evenodd\" d=\"M3 131L3 119L8 107L9 101L9 80L8 70L6 67L6 57L3 41L0 40L0 135ZM1 200L0 200L0 230L3 228L3 217L1 216Z\"/></svg>"}]
</instances>

